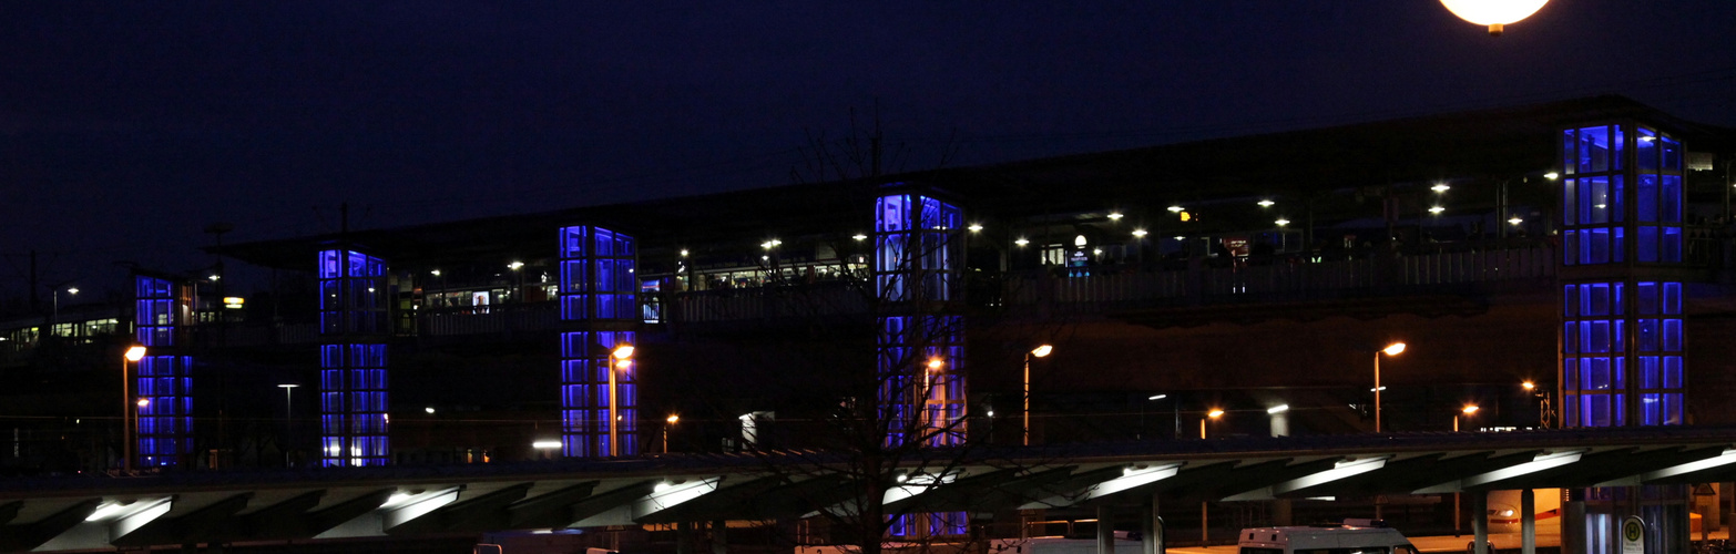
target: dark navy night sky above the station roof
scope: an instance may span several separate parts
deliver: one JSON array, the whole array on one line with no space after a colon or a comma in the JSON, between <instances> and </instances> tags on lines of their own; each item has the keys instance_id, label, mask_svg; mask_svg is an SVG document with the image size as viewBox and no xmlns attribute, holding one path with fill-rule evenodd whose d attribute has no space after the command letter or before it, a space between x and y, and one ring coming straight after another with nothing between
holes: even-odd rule
<instances>
[{"instance_id":1,"label":"dark navy night sky above the station roof","mask_svg":"<svg viewBox=\"0 0 1736 554\"><path fill-rule=\"evenodd\" d=\"M1500 38L1436 0L5 2L0 64L0 302L30 250L102 290L342 201L378 228L790 184L875 104L908 170L1604 92L1736 127L1729 0L1554 0Z\"/></svg>"}]
</instances>

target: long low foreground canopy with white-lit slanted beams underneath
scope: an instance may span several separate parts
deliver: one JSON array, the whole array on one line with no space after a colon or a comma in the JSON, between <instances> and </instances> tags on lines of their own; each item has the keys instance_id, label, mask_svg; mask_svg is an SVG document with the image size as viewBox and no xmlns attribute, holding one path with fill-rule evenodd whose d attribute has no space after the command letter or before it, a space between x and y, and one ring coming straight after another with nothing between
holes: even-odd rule
<instances>
[{"instance_id":1,"label":"long low foreground canopy with white-lit slanted beams underneath","mask_svg":"<svg viewBox=\"0 0 1736 554\"><path fill-rule=\"evenodd\" d=\"M21 478L0 483L0 551L793 519L849 505L856 488L826 469L849 464L840 453L762 452ZM1158 502L1460 491L1481 505L1489 490L1715 481L1736 481L1736 427L925 450L901 467L882 502L887 512L1153 507L1154 514ZM1154 547L1147 540L1147 552Z\"/></svg>"}]
</instances>

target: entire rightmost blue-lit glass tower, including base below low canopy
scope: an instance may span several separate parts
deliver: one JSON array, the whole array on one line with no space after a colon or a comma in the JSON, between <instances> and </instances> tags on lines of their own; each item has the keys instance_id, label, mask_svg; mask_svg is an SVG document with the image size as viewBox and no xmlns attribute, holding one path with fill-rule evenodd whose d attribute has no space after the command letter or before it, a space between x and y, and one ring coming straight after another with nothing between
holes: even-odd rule
<instances>
[{"instance_id":1,"label":"entire rightmost blue-lit glass tower, including base below low canopy","mask_svg":"<svg viewBox=\"0 0 1736 554\"><path fill-rule=\"evenodd\" d=\"M1562 425L1680 425L1682 144L1632 122L1561 141ZM1641 516L1647 552L1687 545L1680 485L1568 490L1562 547L1616 552Z\"/></svg>"}]
</instances>

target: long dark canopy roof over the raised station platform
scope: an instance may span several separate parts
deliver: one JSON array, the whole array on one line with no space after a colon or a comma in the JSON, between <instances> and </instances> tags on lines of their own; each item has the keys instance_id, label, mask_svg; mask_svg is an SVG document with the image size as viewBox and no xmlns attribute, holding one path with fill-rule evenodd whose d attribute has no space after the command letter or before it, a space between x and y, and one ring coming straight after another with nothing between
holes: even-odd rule
<instances>
[{"instance_id":1,"label":"long dark canopy roof over the raised station platform","mask_svg":"<svg viewBox=\"0 0 1736 554\"><path fill-rule=\"evenodd\" d=\"M286 269L311 267L312 252L333 243L359 245L394 264L542 257L552 250L552 229L571 224L620 229L653 248L726 241L757 245L767 236L844 238L868 229L871 198L889 184L955 200L972 219L993 221L1088 219L1115 207L1161 210L1172 203L1248 200L1245 203L1252 205L1252 198L1309 203L1314 217L1330 221L1356 217L1370 208L1328 196L1351 198L1361 191L1427 186L1443 179L1522 182L1538 177L1557 165L1555 134L1561 129L1604 122L1644 122L1684 139L1691 151L1736 158L1736 130L1679 120L1627 97L1599 96L877 179L293 236L224 245L222 255ZM583 188L583 182L573 186L575 191ZM1460 195L1455 201L1486 203L1488 198ZM1378 208L1373 212L1378 214ZM1248 224L1240 215L1220 221Z\"/></svg>"}]
</instances>

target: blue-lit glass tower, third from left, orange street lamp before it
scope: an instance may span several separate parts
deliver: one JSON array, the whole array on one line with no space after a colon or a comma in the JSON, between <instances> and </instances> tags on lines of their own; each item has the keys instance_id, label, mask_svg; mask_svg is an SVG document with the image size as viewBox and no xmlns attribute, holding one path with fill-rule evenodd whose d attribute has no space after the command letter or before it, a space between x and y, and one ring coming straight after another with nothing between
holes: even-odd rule
<instances>
[{"instance_id":1,"label":"blue-lit glass tower, third from left, orange street lamp before it","mask_svg":"<svg viewBox=\"0 0 1736 554\"><path fill-rule=\"evenodd\" d=\"M561 453L637 455L634 238L594 226L561 228L559 259L561 321L566 325L561 332Z\"/></svg>"}]
</instances>

